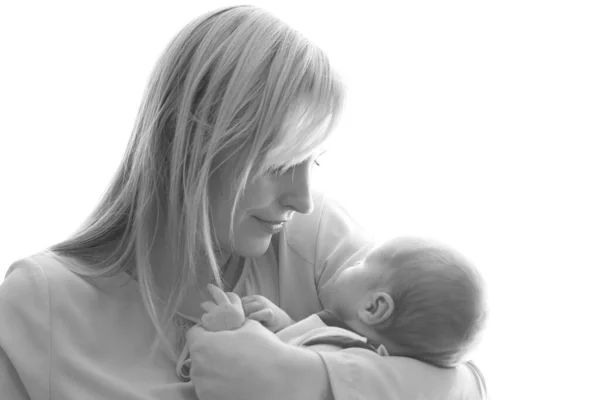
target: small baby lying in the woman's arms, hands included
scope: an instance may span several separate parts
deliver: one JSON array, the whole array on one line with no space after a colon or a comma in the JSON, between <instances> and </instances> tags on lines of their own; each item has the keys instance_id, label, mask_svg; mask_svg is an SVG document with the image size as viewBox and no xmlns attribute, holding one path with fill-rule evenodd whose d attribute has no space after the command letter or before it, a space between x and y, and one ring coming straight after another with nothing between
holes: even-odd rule
<instances>
[{"instance_id":1,"label":"small baby lying in the woman's arms, hands included","mask_svg":"<svg viewBox=\"0 0 600 400\"><path fill-rule=\"evenodd\" d=\"M326 309L300 322L254 295L229 307L237 309L234 313L203 303L202 325L213 331L235 329L244 323L243 308L247 318L288 343L363 347L449 368L462 361L485 320L483 282L476 269L454 250L424 239L390 240L330 282ZM237 296L215 286L210 291L217 303L235 305Z\"/></svg>"}]
</instances>

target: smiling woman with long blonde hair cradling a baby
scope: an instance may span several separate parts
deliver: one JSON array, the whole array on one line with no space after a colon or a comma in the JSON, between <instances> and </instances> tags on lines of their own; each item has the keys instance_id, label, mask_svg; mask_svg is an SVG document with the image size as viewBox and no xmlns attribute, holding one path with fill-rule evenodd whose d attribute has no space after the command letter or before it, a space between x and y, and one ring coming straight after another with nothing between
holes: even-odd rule
<instances>
[{"instance_id":1,"label":"smiling woman with long blonde hair cradling a baby","mask_svg":"<svg viewBox=\"0 0 600 400\"><path fill-rule=\"evenodd\" d=\"M260 9L184 28L96 210L0 287L3 398L483 397L469 365L317 354L252 323L188 333L210 282L262 294L294 319L317 312L329 278L369 246L310 187L342 98L326 56ZM191 381L177 369L186 334Z\"/></svg>"}]
</instances>

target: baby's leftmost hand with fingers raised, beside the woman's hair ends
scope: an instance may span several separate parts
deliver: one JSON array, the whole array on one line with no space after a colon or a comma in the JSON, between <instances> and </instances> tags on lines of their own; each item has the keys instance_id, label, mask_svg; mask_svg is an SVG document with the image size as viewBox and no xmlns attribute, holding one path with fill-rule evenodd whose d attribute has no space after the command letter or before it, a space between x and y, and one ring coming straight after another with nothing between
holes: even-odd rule
<instances>
[{"instance_id":1,"label":"baby's leftmost hand with fingers raised, beside the woman's hair ends","mask_svg":"<svg viewBox=\"0 0 600 400\"><path fill-rule=\"evenodd\" d=\"M242 307L242 301L235 293L225 293L217 286L209 284L208 291L213 301L205 301L200 306L206 313L200 318L204 329L211 332L230 331L238 329L244 322L246 316Z\"/></svg>"}]
</instances>

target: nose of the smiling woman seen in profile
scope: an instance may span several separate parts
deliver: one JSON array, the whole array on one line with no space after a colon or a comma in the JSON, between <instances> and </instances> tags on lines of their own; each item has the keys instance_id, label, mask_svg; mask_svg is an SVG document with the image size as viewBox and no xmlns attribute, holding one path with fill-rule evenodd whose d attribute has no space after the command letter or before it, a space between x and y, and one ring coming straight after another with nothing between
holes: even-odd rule
<instances>
[{"instance_id":1,"label":"nose of the smiling woman seen in profile","mask_svg":"<svg viewBox=\"0 0 600 400\"><path fill-rule=\"evenodd\" d=\"M288 172L281 198L286 209L310 214L314 208L310 185L311 164L303 163Z\"/></svg>"}]
</instances>

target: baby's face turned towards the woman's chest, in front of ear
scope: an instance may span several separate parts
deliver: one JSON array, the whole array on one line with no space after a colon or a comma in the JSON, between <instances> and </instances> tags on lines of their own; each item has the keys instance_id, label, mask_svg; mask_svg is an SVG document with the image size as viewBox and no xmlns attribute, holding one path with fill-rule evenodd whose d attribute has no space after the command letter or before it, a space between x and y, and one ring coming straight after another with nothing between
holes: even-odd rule
<instances>
[{"instance_id":1,"label":"baby's face turned towards the woman's chest, in front of ear","mask_svg":"<svg viewBox=\"0 0 600 400\"><path fill-rule=\"evenodd\" d=\"M341 270L334 275L331 288L332 311L343 319L354 318L361 306L361 300L376 289L386 285L387 269L377 253L371 252L367 258Z\"/></svg>"}]
</instances>

